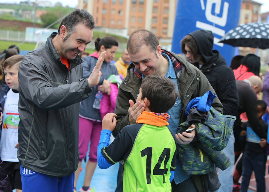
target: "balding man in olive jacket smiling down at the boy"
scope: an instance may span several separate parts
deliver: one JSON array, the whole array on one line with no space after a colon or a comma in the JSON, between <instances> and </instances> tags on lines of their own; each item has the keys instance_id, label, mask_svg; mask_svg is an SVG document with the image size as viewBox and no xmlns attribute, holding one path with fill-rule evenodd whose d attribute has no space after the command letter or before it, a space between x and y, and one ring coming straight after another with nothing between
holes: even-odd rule
<instances>
[{"instance_id":1,"label":"balding man in olive jacket smiling down at the boy","mask_svg":"<svg viewBox=\"0 0 269 192\"><path fill-rule=\"evenodd\" d=\"M133 32L127 42L127 50L132 63L127 69L127 76L120 85L115 113L117 125L113 131L116 136L120 130L129 124L135 124L137 117L143 112L144 107L140 102L135 103L143 77L157 74L172 80L180 93L174 106L168 111L170 122L168 128L175 134L180 123L184 122L184 110L188 102L207 91L215 91L204 74L188 63L184 57L170 51L161 49L157 37L147 30ZM161 103L160 103L161 104ZM222 113L222 104L218 97L214 99L212 107ZM170 126L170 127L169 127ZM175 134L179 144L188 144L195 137L195 130L191 133ZM177 161L179 162L179 161ZM217 176L215 175L217 178ZM119 177L118 177L119 178ZM177 163L175 177L172 181L172 191L201 191L201 177L183 175L181 165ZM186 185L188 188L186 188Z\"/></svg>"}]
</instances>

